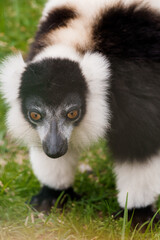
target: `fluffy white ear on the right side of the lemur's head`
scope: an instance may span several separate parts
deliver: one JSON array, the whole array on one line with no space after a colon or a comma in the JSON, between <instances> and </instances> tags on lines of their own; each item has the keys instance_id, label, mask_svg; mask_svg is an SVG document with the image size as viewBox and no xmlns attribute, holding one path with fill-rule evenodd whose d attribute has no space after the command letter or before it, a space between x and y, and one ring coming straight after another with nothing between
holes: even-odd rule
<instances>
[{"instance_id":1,"label":"fluffy white ear on the right side of the lemur's head","mask_svg":"<svg viewBox=\"0 0 160 240\"><path fill-rule=\"evenodd\" d=\"M86 53L80 63L80 66L87 82L93 87L91 90L96 91L97 87L103 88L103 82L106 89L106 80L110 77L110 64L102 54L90 52Z\"/></svg>"}]
</instances>

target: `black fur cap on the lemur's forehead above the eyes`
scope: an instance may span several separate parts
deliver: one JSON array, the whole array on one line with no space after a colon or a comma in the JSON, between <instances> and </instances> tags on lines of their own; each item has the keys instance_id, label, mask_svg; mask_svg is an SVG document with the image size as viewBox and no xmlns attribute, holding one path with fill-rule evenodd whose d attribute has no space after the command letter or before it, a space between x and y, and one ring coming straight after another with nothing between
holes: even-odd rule
<instances>
[{"instance_id":1,"label":"black fur cap on the lemur's forehead above the eyes","mask_svg":"<svg viewBox=\"0 0 160 240\"><path fill-rule=\"evenodd\" d=\"M86 110L87 85L78 63L62 59L46 59L29 64L22 75L19 98L27 117L27 99L42 100L51 108L62 102L81 104L81 118Z\"/></svg>"}]
</instances>

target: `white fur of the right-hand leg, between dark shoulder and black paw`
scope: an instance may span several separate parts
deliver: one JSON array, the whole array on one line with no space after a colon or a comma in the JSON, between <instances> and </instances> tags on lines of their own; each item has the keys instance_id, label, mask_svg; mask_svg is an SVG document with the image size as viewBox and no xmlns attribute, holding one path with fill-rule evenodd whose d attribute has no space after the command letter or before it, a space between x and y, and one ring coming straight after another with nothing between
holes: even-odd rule
<instances>
[{"instance_id":1,"label":"white fur of the right-hand leg, between dark shoulder and black paw","mask_svg":"<svg viewBox=\"0 0 160 240\"><path fill-rule=\"evenodd\" d=\"M125 207L128 193L128 209L153 204L160 194L160 155L145 163L117 163L118 202Z\"/></svg>"}]
</instances>

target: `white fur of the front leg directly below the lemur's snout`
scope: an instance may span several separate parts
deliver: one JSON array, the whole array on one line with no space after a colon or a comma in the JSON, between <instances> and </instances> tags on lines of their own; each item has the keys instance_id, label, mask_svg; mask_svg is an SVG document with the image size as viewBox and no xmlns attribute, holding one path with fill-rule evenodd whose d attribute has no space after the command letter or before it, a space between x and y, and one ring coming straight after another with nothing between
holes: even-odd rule
<instances>
[{"instance_id":1,"label":"white fur of the front leg directly below the lemur's snout","mask_svg":"<svg viewBox=\"0 0 160 240\"><path fill-rule=\"evenodd\" d=\"M68 150L58 159L45 155L42 148L30 149L30 160L34 174L39 181L54 189L66 189L73 185L78 155Z\"/></svg>"}]
</instances>

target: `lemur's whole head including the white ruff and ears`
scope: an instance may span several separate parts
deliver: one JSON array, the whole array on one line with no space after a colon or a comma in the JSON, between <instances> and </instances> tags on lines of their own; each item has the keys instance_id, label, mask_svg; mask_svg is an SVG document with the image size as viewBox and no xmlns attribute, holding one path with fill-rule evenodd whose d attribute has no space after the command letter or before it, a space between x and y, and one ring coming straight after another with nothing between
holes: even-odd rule
<instances>
[{"instance_id":1,"label":"lemur's whole head including the white ruff and ears","mask_svg":"<svg viewBox=\"0 0 160 240\"><path fill-rule=\"evenodd\" d=\"M7 64L13 65L12 71ZM108 62L100 54L80 56L55 46L32 62L16 56L4 65L2 91L11 106L8 126L13 136L31 146L39 141L47 156L58 158L67 152L71 138L83 145L104 134Z\"/></svg>"}]
</instances>

